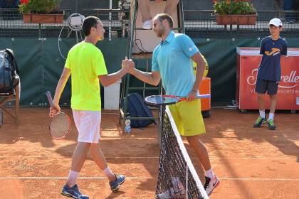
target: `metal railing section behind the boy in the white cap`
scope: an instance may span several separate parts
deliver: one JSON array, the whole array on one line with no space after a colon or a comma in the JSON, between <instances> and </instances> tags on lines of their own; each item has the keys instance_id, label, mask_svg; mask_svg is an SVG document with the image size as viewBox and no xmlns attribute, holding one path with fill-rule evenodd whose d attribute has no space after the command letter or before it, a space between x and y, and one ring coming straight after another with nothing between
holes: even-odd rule
<instances>
[{"instance_id":1,"label":"metal railing section behind the boy in the white cap","mask_svg":"<svg viewBox=\"0 0 299 199\"><path fill-rule=\"evenodd\" d=\"M184 28L195 38L252 38L268 36L271 18L281 18L283 36L298 36L299 11L258 11L256 25L218 25L213 10L184 10Z\"/></svg>"}]
</instances>

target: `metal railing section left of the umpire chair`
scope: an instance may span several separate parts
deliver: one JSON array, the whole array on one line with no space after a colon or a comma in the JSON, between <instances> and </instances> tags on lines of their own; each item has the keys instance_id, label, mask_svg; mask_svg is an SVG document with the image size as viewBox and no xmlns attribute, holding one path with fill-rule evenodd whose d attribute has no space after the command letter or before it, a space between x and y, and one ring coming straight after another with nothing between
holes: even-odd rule
<instances>
[{"instance_id":1,"label":"metal railing section left of the umpire chair","mask_svg":"<svg viewBox=\"0 0 299 199\"><path fill-rule=\"evenodd\" d=\"M84 16L98 16L106 30L106 38L126 38L129 10L83 9ZM0 38L75 38L68 28L70 10L65 10L63 23L23 23L18 9L0 9ZM61 29L63 30L61 31Z\"/></svg>"}]
</instances>

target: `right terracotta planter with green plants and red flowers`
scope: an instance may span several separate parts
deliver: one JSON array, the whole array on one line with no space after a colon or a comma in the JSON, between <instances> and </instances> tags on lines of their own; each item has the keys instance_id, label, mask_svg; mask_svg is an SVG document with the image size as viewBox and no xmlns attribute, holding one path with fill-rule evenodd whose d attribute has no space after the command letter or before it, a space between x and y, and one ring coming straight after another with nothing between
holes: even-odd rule
<instances>
[{"instance_id":1,"label":"right terracotta planter with green plants and red flowers","mask_svg":"<svg viewBox=\"0 0 299 199\"><path fill-rule=\"evenodd\" d=\"M217 0L214 12L219 25L255 25L258 16L248 0Z\"/></svg>"}]
</instances>

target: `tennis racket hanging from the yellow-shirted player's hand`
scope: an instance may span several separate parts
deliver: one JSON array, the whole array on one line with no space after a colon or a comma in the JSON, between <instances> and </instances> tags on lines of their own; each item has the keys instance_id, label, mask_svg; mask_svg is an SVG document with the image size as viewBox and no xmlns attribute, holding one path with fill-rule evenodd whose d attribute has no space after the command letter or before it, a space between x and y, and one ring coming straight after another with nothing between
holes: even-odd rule
<instances>
[{"instance_id":1,"label":"tennis racket hanging from the yellow-shirted player's hand","mask_svg":"<svg viewBox=\"0 0 299 199\"><path fill-rule=\"evenodd\" d=\"M47 91L46 95L48 97L48 101L53 107L53 99L51 97L51 92ZM51 121L49 124L50 134L53 139L63 139L65 136L68 135L70 132L70 117L68 117L67 114L64 112L58 112L54 115L54 117L51 117Z\"/></svg>"}]
</instances>

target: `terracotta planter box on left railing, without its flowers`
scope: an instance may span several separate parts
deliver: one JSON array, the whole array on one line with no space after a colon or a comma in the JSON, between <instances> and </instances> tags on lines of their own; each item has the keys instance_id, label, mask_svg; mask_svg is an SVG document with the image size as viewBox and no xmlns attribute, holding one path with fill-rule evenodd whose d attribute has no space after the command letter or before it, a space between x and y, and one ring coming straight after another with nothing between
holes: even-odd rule
<instances>
[{"instance_id":1,"label":"terracotta planter box on left railing, without its flowers","mask_svg":"<svg viewBox=\"0 0 299 199\"><path fill-rule=\"evenodd\" d=\"M63 23L63 14L23 14L23 22L24 23Z\"/></svg>"}]
</instances>

